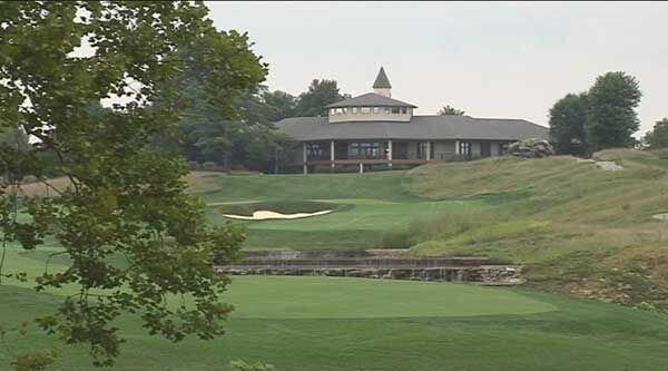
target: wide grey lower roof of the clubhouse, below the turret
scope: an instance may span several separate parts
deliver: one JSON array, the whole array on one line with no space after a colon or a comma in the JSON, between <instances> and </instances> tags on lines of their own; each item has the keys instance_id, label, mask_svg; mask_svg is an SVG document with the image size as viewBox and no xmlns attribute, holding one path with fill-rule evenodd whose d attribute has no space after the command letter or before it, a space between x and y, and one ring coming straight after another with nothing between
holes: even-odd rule
<instances>
[{"instance_id":1,"label":"wide grey lower roof of the clubhouse, below the turret","mask_svg":"<svg viewBox=\"0 0 668 371\"><path fill-rule=\"evenodd\" d=\"M296 140L332 139L489 139L549 138L547 127L522 119L469 116L413 116L410 123L347 121L328 124L326 117L285 118L276 127Z\"/></svg>"}]
</instances>

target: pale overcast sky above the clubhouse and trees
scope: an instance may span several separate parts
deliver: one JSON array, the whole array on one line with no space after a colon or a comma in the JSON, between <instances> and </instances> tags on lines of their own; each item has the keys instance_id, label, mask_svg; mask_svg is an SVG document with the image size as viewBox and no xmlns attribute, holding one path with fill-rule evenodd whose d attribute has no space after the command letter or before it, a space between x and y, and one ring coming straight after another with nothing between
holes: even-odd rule
<instances>
[{"instance_id":1,"label":"pale overcast sky above the clubhouse and trees","mask_svg":"<svg viewBox=\"0 0 668 371\"><path fill-rule=\"evenodd\" d=\"M548 125L548 110L598 75L640 81L641 133L668 117L668 3L209 2L222 30L247 31L266 85L293 95L314 78L369 92L381 66L392 97L433 115Z\"/></svg>"}]
</instances>

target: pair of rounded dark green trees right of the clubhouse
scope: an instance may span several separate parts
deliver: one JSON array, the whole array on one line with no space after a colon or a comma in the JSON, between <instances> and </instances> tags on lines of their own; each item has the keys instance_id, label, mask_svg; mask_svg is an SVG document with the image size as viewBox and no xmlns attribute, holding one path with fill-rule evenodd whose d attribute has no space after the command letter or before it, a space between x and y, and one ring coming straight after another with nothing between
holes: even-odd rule
<instances>
[{"instance_id":1,"label":"pair of rounded dark green trees right of the clubhouse","mask_svg":"<svg viewBox=\"0 0 668 371\"><path fill-rule=\"evenodd\" d=\"M559 99L549 114L557 152L587 156L605 148L632 147L641 96L638 80L618 71L597 77L586 92Z\"/></svg>"}]
</instances>

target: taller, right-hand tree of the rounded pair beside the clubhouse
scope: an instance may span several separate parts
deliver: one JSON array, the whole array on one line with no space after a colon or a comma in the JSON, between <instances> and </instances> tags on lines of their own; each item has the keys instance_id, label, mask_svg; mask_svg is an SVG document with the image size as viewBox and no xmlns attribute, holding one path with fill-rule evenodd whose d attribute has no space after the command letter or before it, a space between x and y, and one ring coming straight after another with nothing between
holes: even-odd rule
<instances>
[{"instance_id":1,"label":"taller, right-hand tree of the rounded pair beside the clubhouse","mask_svg":"<svg viewBox=\"0 0 668 371\"><path fill-rule=\"evenodd\" d=\"M599 76L589 89L588 141L595 150L629 147L639 128L636 107L642 96L638 80L625 72Z\"/></svg>"}]
</instances>

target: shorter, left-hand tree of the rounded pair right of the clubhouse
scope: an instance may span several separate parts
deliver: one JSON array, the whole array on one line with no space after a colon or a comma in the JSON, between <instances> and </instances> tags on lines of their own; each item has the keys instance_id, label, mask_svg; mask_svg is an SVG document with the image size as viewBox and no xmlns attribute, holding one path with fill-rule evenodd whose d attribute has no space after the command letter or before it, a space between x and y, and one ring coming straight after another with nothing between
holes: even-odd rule
<instances>
[{"instance_id":1,"label":"shorter, left-hand tree of the rounded pair right of the clubhouse","mask_svg":"<svg viewBox=\"0 0 668 371\"><path fill-rule=\"evenodd\" d=\"M584 155L587 145L587 94L568 94L550 108L550 137L558 154Z\"/></svg>"}]
</instances>

